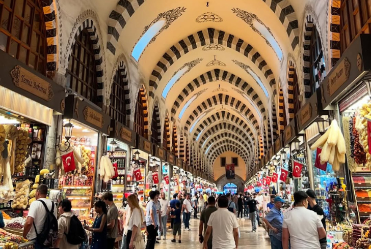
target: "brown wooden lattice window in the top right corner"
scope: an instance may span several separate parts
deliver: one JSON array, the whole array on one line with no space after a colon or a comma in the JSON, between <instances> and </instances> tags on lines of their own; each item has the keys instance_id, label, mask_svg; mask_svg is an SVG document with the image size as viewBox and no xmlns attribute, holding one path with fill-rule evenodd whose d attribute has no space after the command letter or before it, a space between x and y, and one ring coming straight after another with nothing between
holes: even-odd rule
<instances>
[{"instance_id":1,"label":"brown wooden lattice window in the top right corner","mask_svg":"<svg viewBox=\"0 0 371 249\"><path fill-rule=\"evenodd\" d=\"M369 34L370 0L341 0L340 43L344 52L358 34Z\"/></svg>"}]
</instances>

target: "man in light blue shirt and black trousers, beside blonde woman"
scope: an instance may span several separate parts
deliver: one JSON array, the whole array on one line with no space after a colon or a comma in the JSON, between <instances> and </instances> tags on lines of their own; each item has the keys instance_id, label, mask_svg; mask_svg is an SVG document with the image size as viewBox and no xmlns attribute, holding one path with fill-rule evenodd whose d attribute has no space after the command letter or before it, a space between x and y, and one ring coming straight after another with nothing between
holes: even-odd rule
<instances>
[{"instance_id":1,"label":"man in light blue shirt and black trousers, beside blonde woman","mask_svg":"<svg viewBox=\"0 0 371 249\"><path fill-rule=\"evenodd\" d=\"M147 245L146 249L154 249L156 243L157 231L160 228L160 221L158 220L158 213L156 208L157 193L156 191L149 192L149 198L151 199L146 206L146 226L147 226Z\"/></svg>"}]
</instances>

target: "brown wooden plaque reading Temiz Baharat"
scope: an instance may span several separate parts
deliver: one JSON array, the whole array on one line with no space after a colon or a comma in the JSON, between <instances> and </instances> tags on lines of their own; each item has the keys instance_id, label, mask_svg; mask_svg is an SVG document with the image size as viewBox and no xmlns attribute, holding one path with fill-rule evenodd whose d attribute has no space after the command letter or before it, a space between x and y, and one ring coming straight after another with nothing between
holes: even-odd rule
<instances>
[{"instance_id":1,"label":"brown wooden plaque reading Temiz Baharat","mask_svg":"<svg viewBox=\"0 0 371 249\"><path fill-rule=\"evenodd\" d=\"M17 87L31 94L46 101L50 101L54 97L53 88L49 82L41 79L21 66L15 66L10 72L10 75L13 78L13 83Z\"/></svg>"}]
</instances>

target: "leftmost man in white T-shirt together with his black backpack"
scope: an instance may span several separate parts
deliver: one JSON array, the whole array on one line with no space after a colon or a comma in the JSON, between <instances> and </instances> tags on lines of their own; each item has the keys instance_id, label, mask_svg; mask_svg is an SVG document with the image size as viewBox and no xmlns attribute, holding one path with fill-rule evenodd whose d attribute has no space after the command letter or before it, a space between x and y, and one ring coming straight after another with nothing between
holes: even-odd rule
<instances>
[{"instance_id":1,"label":"leftmost man in white T-shirt together with his black backpack","mask_svg":"<svg viewBox=\"0 0 371 249\"><path fill-rule=\"evenodd\" d=\"M30 206L23 228L23 238L35 240L35 249L53 247L58 237L57 207L46 199L47 193L45 184L37 187L36 201Z\"/></svg>"}]
</instances>

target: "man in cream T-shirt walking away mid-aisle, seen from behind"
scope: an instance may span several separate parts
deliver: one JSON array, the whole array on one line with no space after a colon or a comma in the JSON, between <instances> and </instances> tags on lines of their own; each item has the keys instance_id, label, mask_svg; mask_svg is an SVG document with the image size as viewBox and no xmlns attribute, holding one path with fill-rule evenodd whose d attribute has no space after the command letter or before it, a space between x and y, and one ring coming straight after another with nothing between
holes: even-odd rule
<instances>
[{"instance_id":1,"label":"man in cream T-shirt walking away mid-aisle, seen from behind","mask_svg":"<svg viewBox=\"0 0 371 249\"><path fill-rule=\"evenodd\" d=\"M237 249L239 246L239 223L236 215L227 209L227 197L220 196L218 206L219 209L211 213L207 222L203 249L207 249L207 241L211 233L213 233L213 249Z\"/></svg>"}]
</instances>

